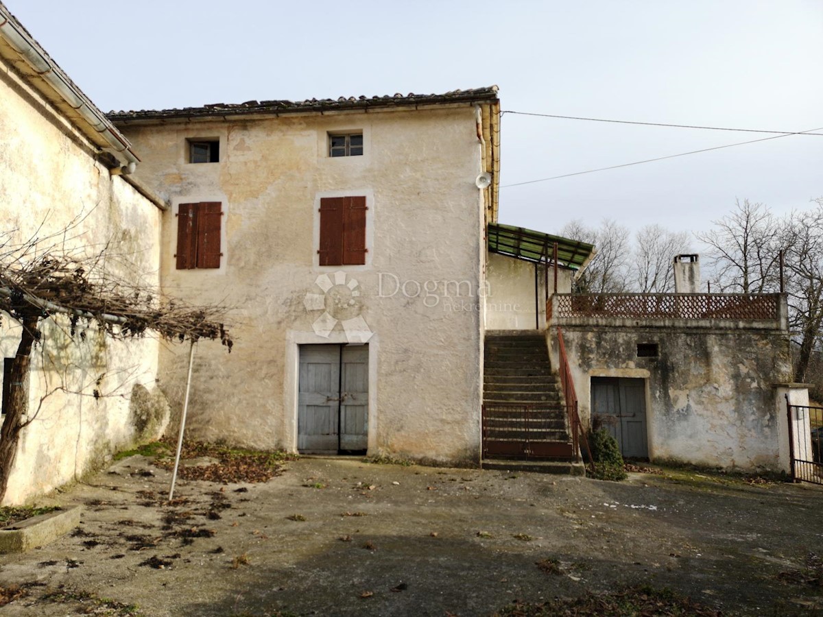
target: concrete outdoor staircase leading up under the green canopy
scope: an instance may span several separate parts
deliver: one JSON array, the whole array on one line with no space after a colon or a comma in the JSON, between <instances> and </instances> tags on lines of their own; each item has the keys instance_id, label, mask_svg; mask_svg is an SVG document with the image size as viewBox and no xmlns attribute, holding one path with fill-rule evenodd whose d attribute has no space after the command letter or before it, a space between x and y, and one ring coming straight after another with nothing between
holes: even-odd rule
<instances>
[{"instance_id":1,"label":"concrete outdoor staircase leading up under the green canopy","mask_svg":"<svg viewBox=\"0 0 823 617\"><path fill-rule=\"evenodd\" d=\"M486 332L483 408L484 468L583 475L545 334Z\"/></svg>"}]
</instances>

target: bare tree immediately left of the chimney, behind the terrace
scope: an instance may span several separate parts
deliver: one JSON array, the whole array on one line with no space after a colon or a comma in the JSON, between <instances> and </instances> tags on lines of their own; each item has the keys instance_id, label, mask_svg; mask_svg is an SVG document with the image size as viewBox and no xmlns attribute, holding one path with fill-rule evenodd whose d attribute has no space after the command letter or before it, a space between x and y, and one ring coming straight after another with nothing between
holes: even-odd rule
<instances>
[{"instance_id":1,"label":"bare tree immediately left of the chimney, behind the terrace","mask_svg":"<svg viewBox=\"0 0 823 617\"><path fill-rule=\"evenodd\" d=\"M646 225L635 234L631 282L634 290L644 294L668 294L674 291L674 257L689 253L689 234L673 232L660 225Z\"/></svg>"}]
</instances>

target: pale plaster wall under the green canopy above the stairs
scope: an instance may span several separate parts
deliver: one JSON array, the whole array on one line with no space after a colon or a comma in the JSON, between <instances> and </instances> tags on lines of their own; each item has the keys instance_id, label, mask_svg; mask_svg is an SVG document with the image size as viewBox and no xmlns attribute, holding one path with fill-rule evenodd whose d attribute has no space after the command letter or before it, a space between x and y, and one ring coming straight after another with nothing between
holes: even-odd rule
<instances>
[{"instance_id":1,"label":"pale plaster wall under the green canopy above the stairs","mask_svg":"<svg viewBox=\"0 0 823 617\"><path fill-rule=\"evenodd\" d=\"M535 330L546 327L546 267L499 253L488 253L486 261L486 330ZM573 272L557 271L557 291L571 291ZM554 293L555 273L549 268L549 297ZM537 320L535 319L537 313Z\"/></svg>"}]
</instances>

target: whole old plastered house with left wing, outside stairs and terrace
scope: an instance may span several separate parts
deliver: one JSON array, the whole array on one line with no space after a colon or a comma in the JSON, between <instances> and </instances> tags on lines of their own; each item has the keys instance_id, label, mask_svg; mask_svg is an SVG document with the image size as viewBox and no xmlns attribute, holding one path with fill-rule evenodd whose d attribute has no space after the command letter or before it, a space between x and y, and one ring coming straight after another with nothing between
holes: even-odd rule
<instances>
[{"instance_id":1,"label":"whole old plastered house with left wing, outside stairs and terrace","mask_svg":"<svg viewBox=\"0 0 823 617\"><path fill-rule=\"evenodd\" d=\"M781 396L802 391L775 385L784 299L571 295L594 248L498 222L496 87L104 116L2 5L0 21L6 229L79 217L72 242L235 307L235 353L198 348L192 436L491 465L576 461L600 417L627 455L785 468ZM5 357L18 336L3 320ZM33 404L100 374L123 396L44 399L9 502L156 437L162 397L182 406L186 350L54 341Z\"/></svg>"}]
</instances>

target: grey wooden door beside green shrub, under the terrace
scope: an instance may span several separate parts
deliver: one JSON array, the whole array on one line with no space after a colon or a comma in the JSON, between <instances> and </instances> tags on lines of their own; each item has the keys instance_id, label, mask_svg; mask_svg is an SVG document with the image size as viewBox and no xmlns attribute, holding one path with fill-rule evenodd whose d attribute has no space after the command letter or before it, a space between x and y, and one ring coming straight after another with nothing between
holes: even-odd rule
<instances>
[{"instance_id":1,"label":"grey wooden door beside green shrub, under the terrace","mask_svg":"<svg viewBox=\"0 0 823 617\"><path fill-rule=\"evenodd\" d=\"M593 377L592 416L617 440L624 457L649 457L644 379Z\"/></svg>"}]
</instances>

